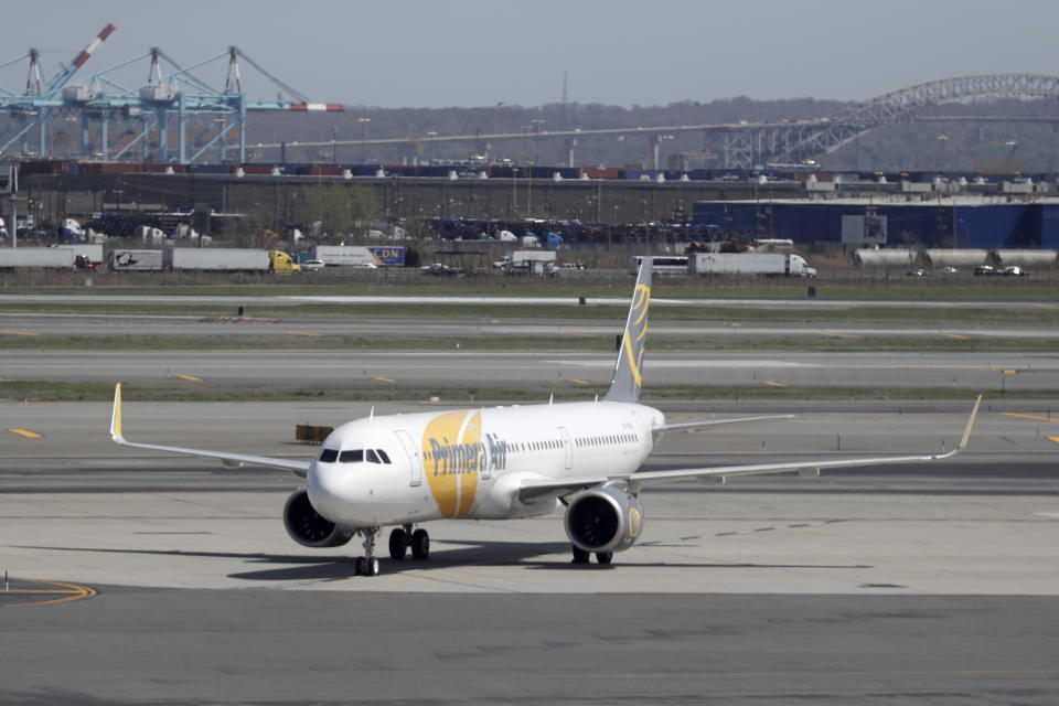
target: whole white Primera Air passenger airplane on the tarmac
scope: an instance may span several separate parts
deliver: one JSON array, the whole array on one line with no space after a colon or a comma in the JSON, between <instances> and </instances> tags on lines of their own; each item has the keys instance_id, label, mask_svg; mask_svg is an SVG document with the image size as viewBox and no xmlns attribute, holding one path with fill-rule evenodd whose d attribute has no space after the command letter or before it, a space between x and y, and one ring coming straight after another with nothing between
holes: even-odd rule
<instances>
[{"instance_id":1,"label":"whole white Primera Air passenger airplane on the tarmac","mask_svg":"<svg viewBox=\"0 0 1059 706\"><path fill-rule=\"evenodd\" d=\"M963 438L945 453L802 460L637 472L666 431L779 419L771 415L667 424L640 403L644 339L651 301L651 260L643 259L625 320L611 384L602 398L499 407L468 407L367 417L334 429L311 461L203 449L136 443L121 426L121 384L115 386L110 438L118 445L202 458L228 467L265 466L304 479L284 506L290 537L307 547L331 548L364 538L355 573L377 576L375 541L383 527L389 556L427 559L430 537L418 525L446 518L511 520L566 507L564 526L573 561L610 564L643 530L643 486L735 475L851 468L950 459L966 446L978 396Z\"/></svg>"}]
</instances>

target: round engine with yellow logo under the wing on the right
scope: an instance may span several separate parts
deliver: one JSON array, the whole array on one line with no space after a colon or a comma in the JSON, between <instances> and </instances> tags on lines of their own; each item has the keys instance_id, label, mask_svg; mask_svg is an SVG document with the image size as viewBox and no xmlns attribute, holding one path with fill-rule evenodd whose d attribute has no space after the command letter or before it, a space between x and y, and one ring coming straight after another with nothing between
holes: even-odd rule
<instances>
[{"instance_id":1,"label":"round engine with yellow logo under the wing on the right","mask_svg":"<svg viewBox=\"0 0 1059 706\"><path fill-rule=\"evenodd\" d=\"M566 536L586 552L624 552L640 536L643 510L624 491L592 488L570 500L564 524Z\"/></svg>"}]
</instances>

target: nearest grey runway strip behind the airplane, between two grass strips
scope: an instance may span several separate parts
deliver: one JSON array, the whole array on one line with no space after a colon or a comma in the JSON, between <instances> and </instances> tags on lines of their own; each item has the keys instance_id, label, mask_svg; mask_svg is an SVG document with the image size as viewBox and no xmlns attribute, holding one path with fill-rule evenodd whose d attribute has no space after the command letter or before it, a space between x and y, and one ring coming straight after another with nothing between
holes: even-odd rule
<instances>
[{"instance_id":1,"label":"nearest grey runway strip behind the airplane, between two grass strips","mask_svg":"<svg viewBox=\"0 0 1059 706\"><path fill-rule=\"evenodd\" d=\"M343 387L608 384L610 353L552 351L0 351L0 377L158 384ZM1059 389L1059 353L659 352L645 385ZM188 381L188 377L195 378Z\"/></svg>"}]
</instances>

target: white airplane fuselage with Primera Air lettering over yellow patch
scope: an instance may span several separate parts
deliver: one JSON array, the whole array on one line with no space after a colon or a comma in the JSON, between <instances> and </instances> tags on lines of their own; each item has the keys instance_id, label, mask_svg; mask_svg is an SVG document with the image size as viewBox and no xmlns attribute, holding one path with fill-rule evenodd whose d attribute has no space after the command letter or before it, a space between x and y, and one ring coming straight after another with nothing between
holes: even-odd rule
<instances>
[{"instance_id":1,"label":"white airplane fuselage with Primera Air lettering over yellow patch","mask_svg":"<svg viewBox=\"0 0 1059 706\"><path fill-rule=\"evenodd\" d=\"M557 501L523 503L523 480L631 473L663 424L614 402L367 417L331 432L307 489L318 513L350 527L542 515Z\"/></svg>"}]
</instances>

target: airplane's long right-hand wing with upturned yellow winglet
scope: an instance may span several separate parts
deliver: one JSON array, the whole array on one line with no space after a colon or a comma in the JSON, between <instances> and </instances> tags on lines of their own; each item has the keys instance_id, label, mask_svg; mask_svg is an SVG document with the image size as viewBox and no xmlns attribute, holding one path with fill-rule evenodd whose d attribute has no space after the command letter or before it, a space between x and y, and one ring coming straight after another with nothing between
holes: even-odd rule
<instances>
[{"instance_id":1,"label":"airplane's long right-hand wing with upturned yellow winglet","mask_svg":"<svg viewBox=\"0 0 1059 706\"><path fill-rule=\"evenodd\" d=\"M941 461L951 459L967 446L971 438L971 429L974 427L975 417L978 414L978 406L982 404L982 395L978 395L971 410L971 418L967 419L967 426L963 431L963 438L952 451L946 453L927 453L917 456L876 456L864 458L847 459L826 459L826 460L804 460L789 461L782 463L752 463L744 466L718 466L713 468L688 468L673 471L646 471L643 473L621 473L618 475L599 475L595 478L557 478L525 480L520 486L518 500L524 503L534 503L548 498L565 498L588 488L595 488L605 483L621 483L628 485L632 492L639 492L640 488L648 483L663 481L684 481L698 480L703 482L723 483L729 475L756 475L762 473L782 473L784 471L800 471L804 474L816 475L821 469L831 468L856 468L860 466L882 466L889 463L914 463L923 461Z\"/></svg>"}]
</instances>

